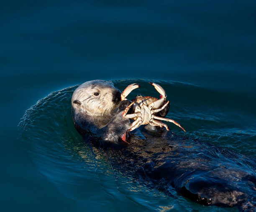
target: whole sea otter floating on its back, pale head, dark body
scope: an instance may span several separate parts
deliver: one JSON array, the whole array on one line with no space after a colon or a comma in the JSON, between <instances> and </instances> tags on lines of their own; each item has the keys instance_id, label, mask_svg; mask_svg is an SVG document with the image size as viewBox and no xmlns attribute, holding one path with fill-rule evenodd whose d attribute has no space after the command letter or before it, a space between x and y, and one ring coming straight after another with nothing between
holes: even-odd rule
<instances>
[{"instance_id":1,"label":"whole sea otter floating on its back, pale head, dark body","mask_svg":"<svg viewBox=\"0 0 256 212\"><path fill-rule=\"evenodd\" d=\"M122 114L130 101L120 102L120 91L108 81L89 81L72 96L76 129L134 179L143 179L166 194L173 190L204 205L256 211L256 159L171 131L137 129L128 138L130 120Z\"/></svg>"}]
</instances>

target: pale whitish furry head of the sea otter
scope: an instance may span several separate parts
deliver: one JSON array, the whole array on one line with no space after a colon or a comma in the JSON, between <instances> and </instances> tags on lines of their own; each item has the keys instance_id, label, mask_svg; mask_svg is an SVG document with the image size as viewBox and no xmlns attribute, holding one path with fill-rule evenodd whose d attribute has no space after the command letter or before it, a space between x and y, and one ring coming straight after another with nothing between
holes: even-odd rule
<instances>
[{"instance_id":1,"label":"pale whitish furry head of the sea otter","mask_svg":"<svg viewBox=\"0 0 256 212\"><path fill-rule=\"evenodd\" d=\"M121 92L113 83L103 80L88 81L73 93L72 107L88 115L111 115L121 101Z\"/></svg>"}]
</instances>

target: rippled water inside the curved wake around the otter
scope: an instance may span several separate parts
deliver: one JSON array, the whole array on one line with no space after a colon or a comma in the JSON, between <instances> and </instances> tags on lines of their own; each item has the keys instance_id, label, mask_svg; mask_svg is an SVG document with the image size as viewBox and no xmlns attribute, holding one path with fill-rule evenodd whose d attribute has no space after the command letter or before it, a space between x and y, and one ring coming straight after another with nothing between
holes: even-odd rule
<instances>
[{"instance_id":1,"label":"rippled water inside the curved wake around the otter","mask_svg":"<svg viewBox=\"0 0 256 212\"><path fill-rule=\"evenodd\" d=\"M137 94L158 96L144 80L113 81L123 90L141 83ZM256 155L255 99L212 91L192 84L156 81L171 101L168 118L178 121L187 133L168 124L177 136L200 139L238 153ZM73 126L71 96L77 86L50 93L26 111L19 124L20 142L35 170L62 195L77 202L113 203L118 211L235 211L204 207L170 189L159 192L129 172L120 172L107 155L82 140ZM136 132L135 132L136 134ZM170 195L171 194L171 195ZM99 202L100 199L100 202ZM123 206L125 205L125 208Z\"/></svg>"}]
</instances>

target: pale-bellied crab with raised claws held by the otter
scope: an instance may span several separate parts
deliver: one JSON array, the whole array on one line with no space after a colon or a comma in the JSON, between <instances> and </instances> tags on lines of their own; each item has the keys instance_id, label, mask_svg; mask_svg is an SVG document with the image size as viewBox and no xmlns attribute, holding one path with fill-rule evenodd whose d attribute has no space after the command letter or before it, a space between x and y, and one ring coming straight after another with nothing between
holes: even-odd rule
<instances>
[{"instance_id":1,"label":"pale-bellied crab with raised claws held by the otter","mask_svg":"<svg viewBox=\"0 0 256 212\"><path fill-rule=\"evenodd\" d=\"M151 96L137 96L135 99L133 99L132 103L129 104L123 112L123 118L134 120L134 122L130 124L131 128L128 131L132 131L144 124L165 127L166 130L169 130L167 124L164 124L162 122L169 121L176 124L184 132L186 132L177 121L155 115L159 111L163 110L168 105L169 101L165 103L167 95L161 86L156 83L149 83L156 88L156 91L160 93L160 99ZM140 84L133 83L125 88L125 90L121 94L121 101L127 100L126 97L128 96L128 94L131 93L131 91L133 91L134 89L139 88L140 86ZM131 106L133 106L133 114L127 114Z\"/></svg>"}]
</instances>

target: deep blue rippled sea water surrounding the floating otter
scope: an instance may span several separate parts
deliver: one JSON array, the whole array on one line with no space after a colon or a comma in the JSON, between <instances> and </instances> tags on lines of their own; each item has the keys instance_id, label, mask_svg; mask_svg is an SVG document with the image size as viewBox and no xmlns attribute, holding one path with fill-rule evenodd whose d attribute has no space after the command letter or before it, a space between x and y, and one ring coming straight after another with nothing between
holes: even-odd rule
<instances>
[{"instance_id":1,"label":"deep blue rippled sea water surrounding the floating otter","mask_svg":"<svg viewBox=\"0 0 256 212\"><path fill-rule=\"evenodd\" d=\"M154 81L175 134L256 156L255 23L255 0L0 1L1 211L236 211L116 172L70 98L92 79L158 97Z\"/></svg>"}]
</instances>

